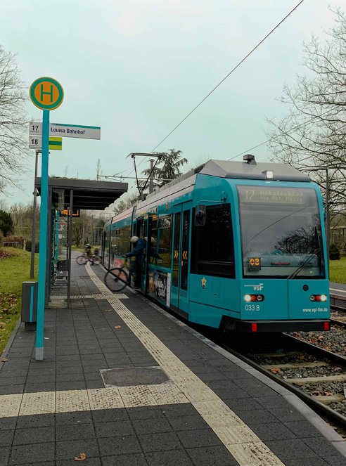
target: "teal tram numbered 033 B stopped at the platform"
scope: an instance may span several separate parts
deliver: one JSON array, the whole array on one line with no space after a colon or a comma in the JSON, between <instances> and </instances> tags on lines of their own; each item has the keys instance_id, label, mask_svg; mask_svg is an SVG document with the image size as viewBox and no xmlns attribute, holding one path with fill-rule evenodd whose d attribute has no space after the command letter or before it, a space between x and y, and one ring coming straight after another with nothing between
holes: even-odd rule
<instances>
[{"instance_id":1,"label":"teal tram numbered 033 B stopped at the platform","mask_svg":"<svg viewBox=\"0 0 346 466\"><path fill-rule=\"evenodd\" d=\"M222 330L330 330L319 187L287 164L210 160L105 225L103 265L143 238L141 292Z\"/></svg>"}]
</instances>

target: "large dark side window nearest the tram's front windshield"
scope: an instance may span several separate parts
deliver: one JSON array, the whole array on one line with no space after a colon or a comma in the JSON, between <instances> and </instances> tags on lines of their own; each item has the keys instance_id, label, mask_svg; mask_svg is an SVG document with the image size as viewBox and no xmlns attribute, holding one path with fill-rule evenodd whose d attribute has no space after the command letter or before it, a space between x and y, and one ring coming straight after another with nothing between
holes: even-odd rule
<instances>
[{"instance_id":1,"label":"large dark side window nearest the tram's front windshield","mask_svg":"<svg viewBox=\"0 0 346 466\"><path fill-rule=\"evenodd\" d=\"M193 217L196 209L193 209ZM191 273L234 278L234 247L229 204L207 206L205 225L192 230Z\"/></svg>"}]
</instances>

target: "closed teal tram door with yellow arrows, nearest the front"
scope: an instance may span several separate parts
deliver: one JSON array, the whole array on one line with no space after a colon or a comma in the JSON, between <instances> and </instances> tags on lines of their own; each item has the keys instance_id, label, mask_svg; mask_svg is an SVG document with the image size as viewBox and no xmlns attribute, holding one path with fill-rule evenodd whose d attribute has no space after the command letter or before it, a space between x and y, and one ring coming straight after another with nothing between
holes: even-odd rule
<instances>
[{"instance_id":1,"label":"closed teal tram door with yellow arrows, nearest the front","mask_svg":"<svg viewBox=\"0 0 346 466\"><path fill-rule=\"evenodd\" d=\"M173 214L172 285L170 303L181 316L188 317L188 263L191 235L191 202L180 204Z\"/></svg>"}]
</instances>

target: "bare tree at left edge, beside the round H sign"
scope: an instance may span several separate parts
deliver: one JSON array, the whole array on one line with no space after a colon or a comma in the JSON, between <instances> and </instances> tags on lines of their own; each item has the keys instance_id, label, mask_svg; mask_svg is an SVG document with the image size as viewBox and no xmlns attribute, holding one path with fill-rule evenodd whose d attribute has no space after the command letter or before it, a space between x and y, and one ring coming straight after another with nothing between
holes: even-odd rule
<instances>
[{"instance_id":1,"label":"bare tree at left edge, beside the round H sign","mask_svg":"<svg viewBox=\"0 0 346 466\"><path fill-rule=\"evenodd\" d=\"M15 184L16 176L23 173L27 158L27 141L24 130L27 90L20 81L15 56L0 46L0 192L6 184Z\"/></svg>"}]
</instances>

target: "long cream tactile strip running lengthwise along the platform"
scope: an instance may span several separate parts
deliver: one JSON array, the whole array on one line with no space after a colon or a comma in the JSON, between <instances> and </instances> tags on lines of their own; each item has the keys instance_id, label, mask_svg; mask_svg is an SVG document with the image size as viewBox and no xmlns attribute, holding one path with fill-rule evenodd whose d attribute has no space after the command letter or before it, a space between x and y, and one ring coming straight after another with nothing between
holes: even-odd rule
<instances>
[{"instance_id":1,"label":"long cream tactile strip running lengthwise along the platform","mask_svg":"<svg viewBox=\"0 0 346 466\"><path fill-rule=\"evenodd\" d=\"M283 466L283 462L265 445L245 423L214 394L180 359L163 344L146 325L110 292L90 266L87 272L120 318L140 339L150 354L165 370L170 380L184 392L186 398L210 425L233 457L242 466ZM142 386L143 388L143 386Z\"/></svg>"}]
</instances>

